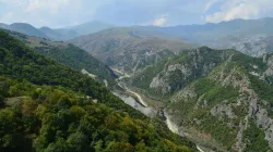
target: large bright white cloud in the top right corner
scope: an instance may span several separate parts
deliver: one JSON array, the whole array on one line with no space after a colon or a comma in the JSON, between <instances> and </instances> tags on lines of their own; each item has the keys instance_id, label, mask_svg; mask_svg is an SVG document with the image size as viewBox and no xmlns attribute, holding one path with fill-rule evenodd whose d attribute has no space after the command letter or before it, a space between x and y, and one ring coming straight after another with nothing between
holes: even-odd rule
<instances>
[{"instance_id":1,"label":"large bright white cloud in the top right corner","mask_svg":"<svg viewBox=\"0 0 273 152\"><path fill-rule=\"evenodd\" d=\"M272 0L226 0L221 11L205 16L206 22L218 23L235 18L256 18L273 9Z\"/></svg>"}]
</instances>

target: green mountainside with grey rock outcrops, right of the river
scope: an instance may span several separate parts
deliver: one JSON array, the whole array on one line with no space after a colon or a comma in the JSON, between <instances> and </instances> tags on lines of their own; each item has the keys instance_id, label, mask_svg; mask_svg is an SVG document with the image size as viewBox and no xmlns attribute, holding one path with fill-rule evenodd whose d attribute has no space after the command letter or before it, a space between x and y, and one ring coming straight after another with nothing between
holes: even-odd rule
<instances>
[{"instance_id":1,"label":"green mountainside with grey rock outcrops, right of the river","mask_svg":"<svg viewBox=\"0 0 273 152\"><path fill-rule=\"evenodd\" d=\"M273 150L272 61L272 54L251 58L202 47L149 66L128 81L162 102L179 132L200 145L266 152Z\"/></svg>"}]
</instances>

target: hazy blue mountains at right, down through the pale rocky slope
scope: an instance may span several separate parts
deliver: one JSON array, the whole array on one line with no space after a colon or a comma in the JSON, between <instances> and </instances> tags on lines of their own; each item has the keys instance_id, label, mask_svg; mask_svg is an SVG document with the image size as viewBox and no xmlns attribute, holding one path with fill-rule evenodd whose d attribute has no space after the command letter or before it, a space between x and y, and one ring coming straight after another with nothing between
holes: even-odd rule
<instances>
[{"instance_id":1,"label":"hazy blue mountains at right, down through the pale rocky slope","mask_svg":"<svg viewBox=\"0 0 273 152\"><path fill-rule=\"evenodd\" d=\"M218 24L179 25L169 27L143 26L143 29L159 31L173 37L187 39L199 46L210 46L215 49L235 48L249 55L262 55L273 51L270 46L273 36L273 18L233 20ZM259 37L263 38L259 38ZM156 36L158 37L158 36ZM245 47L246 43L257 43ZM246 45L249 46L249 45ZM269 46L269 47L266 47Z\"/></svg>"}]
</instances>

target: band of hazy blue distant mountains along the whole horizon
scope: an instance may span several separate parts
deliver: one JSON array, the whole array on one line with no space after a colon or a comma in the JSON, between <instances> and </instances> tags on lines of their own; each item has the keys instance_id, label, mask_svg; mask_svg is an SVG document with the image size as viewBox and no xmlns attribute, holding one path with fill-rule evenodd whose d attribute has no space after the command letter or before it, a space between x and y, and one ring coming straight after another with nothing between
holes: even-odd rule
<instances>
[{"instance_id":1,"label":"band of hazy blue distant mountains along the whole horizon","mask_svg":"<svg viewBox=\"0 0 273 152\"><path fill-rule=\"evenodd\" d=\"M235 48L244 53L260 56L271 51L273 18L234 20L218 24L178 25L170 27L130 26L117 27L115 25L94 21L76 26L52 29L50 27L35 28L29 24L15 23L0 24L0 28L23 33L29 36L51 40L70 40L81 35L88 35L114 28L130 30L136 37L156 37L159 39L183 39L195 46L209 46L215 49ZM254 46L251 43L256 43Z\"/></svg>"}]
</instances>

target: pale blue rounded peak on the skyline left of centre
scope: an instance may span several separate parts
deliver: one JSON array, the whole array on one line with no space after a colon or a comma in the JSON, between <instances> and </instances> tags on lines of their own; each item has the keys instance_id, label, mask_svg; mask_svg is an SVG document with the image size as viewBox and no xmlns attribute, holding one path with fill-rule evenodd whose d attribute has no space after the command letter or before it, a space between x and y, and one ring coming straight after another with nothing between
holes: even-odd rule
<instances>
[{"instance_id":1,"label":"pale blue rounded peak on the skyline left of centre","mask_svg":"<svg viewBox=\"0 0 273 152\"><path fill-rule=\"evenodd\" d=\"M115 25L99 22L99 21L93 21L93 22L87 22L81 25L69 27L68 29L73 29L80 35L87 35L87 34L97 33L97 31L111 28L111 27L115 27Z\"/></svg>"}]
</instances>

